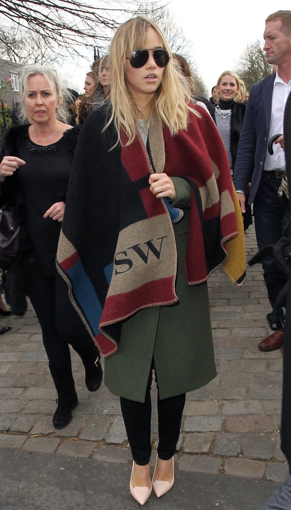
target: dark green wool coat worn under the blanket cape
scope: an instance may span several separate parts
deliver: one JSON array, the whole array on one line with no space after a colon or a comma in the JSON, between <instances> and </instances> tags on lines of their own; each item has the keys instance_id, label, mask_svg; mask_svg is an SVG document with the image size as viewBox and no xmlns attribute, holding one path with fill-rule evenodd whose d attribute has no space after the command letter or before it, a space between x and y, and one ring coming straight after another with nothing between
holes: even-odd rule
<instances>
[{"instance_id":1,"label":"dark green wool coat worn under the blanket cape","mask_svg":"<svg viewBox=\"0 0 291 510\"><path fill-rule=\"evenodd\" d=\"M140 310L122 324L115 354L105 358L104 384L115 395L145 401L154 362L161 399L196 390L216 376L207 283L189 286L184 268L189 223L190 186L173 178L173 207L184 216L173 225L177 247L177 303Z\"/></svg>"}]
</instances>

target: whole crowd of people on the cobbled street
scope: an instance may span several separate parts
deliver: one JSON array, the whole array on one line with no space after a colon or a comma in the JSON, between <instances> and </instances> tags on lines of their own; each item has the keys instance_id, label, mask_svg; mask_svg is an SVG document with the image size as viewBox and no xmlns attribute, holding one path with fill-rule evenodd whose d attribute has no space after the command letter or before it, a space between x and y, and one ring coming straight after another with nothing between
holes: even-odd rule
<instances>
[{"instance_id":1,"label":"whole crowd of people on the cobbled street","mask_svg":"<svg viewBox=\"0 0 291 510\"><path fill-rule=\"evenodd\" d=\"M252 209L258 248L281 237L291 11L267 18L264 40L276 70L250 94L225 70L208 100L158 24L132 18L86 74L82 95L62 88L52 68L25 67L18 125L1 144L1 207L21 235L15 262L2 270L0 315L23 315L30 298L58 395L57 429L78 405L69 346L92 392L103 355L104 384L120 397L133 456L129 491L141 505L173 487L186 393L216 376L208 276L223 266L234 285L244 284ZM287 276L270 256L263 270L274 330L258 347L270 351L282 347L282 315L288 324L287 305L277 307ZM153 374L159 440L151 477ZM290 463L288 412L282 420ZM290 476L274 498L261 510L291 507Z\"/></svg>"}]
</instances>

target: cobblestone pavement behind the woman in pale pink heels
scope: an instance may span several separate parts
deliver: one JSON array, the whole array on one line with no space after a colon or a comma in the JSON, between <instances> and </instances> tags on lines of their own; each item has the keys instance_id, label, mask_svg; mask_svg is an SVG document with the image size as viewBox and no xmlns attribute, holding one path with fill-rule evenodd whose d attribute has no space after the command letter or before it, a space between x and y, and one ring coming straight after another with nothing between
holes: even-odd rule
<instances>
[{"instance_id":1,"label":"cobblestone pavement behind the woman in pale pink heels","mask_svg":"<svg viewBox=\"0 0 291 510\"><path fill-rule=\"evenodd\" d=\"M253 226L246 233L246 251L247 260L256 252ZM218 375L187 395L177 469L281 482L287 473L279 437L282 351L257 348L270 331L261 266L248 268L242 289L223 271L215 273L209 297ZM103 385L89 393L81 360L72 352L80 404L72 422L56 431L51 423L56 391L33 309L0 322L12 326L0 337L0 447L127 464L131 455L119 399ZM152 430L154 449L154 406Z\"/></svg>"}]
</instances>

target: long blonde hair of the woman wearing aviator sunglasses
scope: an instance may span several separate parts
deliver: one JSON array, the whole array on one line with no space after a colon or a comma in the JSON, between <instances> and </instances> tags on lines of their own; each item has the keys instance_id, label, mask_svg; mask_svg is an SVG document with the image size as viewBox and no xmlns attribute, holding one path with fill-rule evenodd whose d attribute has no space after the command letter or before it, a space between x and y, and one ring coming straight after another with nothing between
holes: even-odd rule
<instances>
[{"instance_id":1,"label":"long blonde hair of the woman wearing aviator sunglasses","mask_svg":"<svg viewBox=\"0 0 291 510\"><path fill-rule=\"evenodd\" d=\"M129 57L136 49L145 48L150 27L161 38L163 48L171 56L171 48L163 31L155 21L141 16L131 18L120 25L111 42L108 65L111 72L112 113L104 129L114 122L118 135L117 143L121 142L122 131L128 136L126 145L133 142L137 121L141 117L145 124L148 117L153 121L157 115L172 135L179 130L187 129L189 110L192 110L189 105L191 90L174 68L171 59L165 67L161 85L155 91L143 114L139 111L127 86L126 57Z\"/></svg>"}]
</instances>

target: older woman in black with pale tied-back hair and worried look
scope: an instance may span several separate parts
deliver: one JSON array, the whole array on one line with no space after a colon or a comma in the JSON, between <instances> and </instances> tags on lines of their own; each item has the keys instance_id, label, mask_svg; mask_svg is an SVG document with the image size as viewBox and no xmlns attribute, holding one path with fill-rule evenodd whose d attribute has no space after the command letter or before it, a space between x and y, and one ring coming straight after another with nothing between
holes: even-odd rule
<instances>
[{"instance_id":1,"label":"older woman in black with pale tied-back hair and worried look","mask_svg":"<svg viewBox=\"0 0 291 510\"><path fill-rule=\"evenodd\" d=\"M49 370L58 393L52 418L64 428L78 405L69 345L81 356L86 385L102 380L99 351L76 314L56 271L56 252L78 132L66 123L64 94L55 69L28 66L20 80L24 124L6 133L0 154L1 205L10 206L20 226L20 253L7 270L5 295L11 311L23 315L30 297L38 317ZM95 365L96 362L96 365Z\"/></svg>"}]
</instances>

